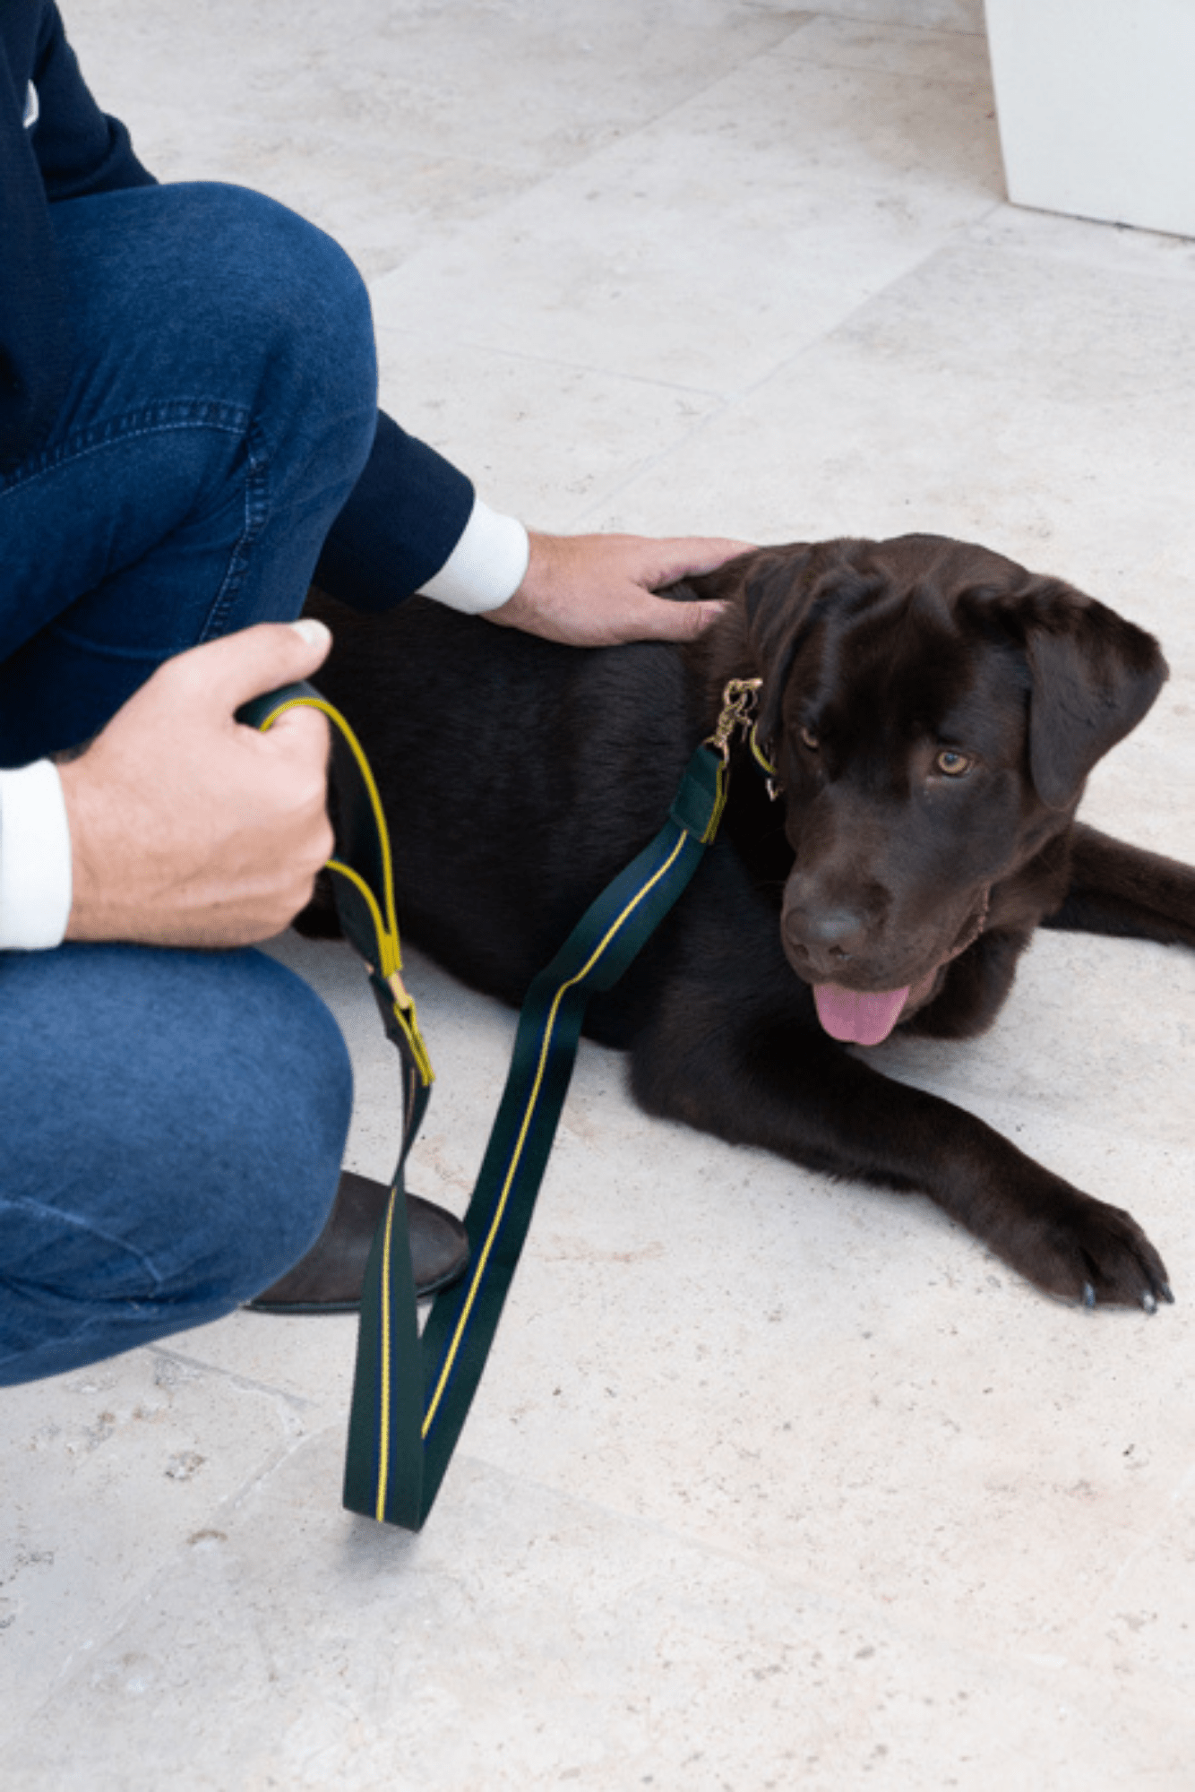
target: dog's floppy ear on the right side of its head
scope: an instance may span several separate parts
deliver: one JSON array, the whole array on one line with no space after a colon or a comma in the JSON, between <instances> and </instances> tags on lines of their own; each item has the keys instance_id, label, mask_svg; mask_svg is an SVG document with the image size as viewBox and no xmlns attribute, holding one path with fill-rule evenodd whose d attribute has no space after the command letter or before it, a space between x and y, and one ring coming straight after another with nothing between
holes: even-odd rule
<instances>
[{"instance_id":1,"label":"dog's floppy ear on the right side of its head","mask_svg":"<svg viewBox=\"0 0 1195 1792\"><path fill-rule=\"evenodd\" d=\"M1096 760L1148 711L1166 661L1152 634L1066 584L1039 586L1021 620L1034 788L1050 808L1066 808Z\"/></svg>"}]
</instances>

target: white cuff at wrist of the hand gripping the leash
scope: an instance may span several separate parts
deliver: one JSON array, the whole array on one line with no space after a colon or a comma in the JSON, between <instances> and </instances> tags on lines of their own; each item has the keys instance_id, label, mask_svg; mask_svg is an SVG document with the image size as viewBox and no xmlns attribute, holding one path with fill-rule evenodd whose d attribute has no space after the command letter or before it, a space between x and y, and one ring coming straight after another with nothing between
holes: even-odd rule
<instances>
[{"instance_id":1,"label":"white cuff at wrist of the hand gripping the leash","mask_svg":"<svg viewBox=\"0 0 1195 1792\"><path fill-rule=\"evenodd\" d=\"M52 760L0 772L0 950L61 946L70 919L70 826Z\"/></svg>"}]
</instances>

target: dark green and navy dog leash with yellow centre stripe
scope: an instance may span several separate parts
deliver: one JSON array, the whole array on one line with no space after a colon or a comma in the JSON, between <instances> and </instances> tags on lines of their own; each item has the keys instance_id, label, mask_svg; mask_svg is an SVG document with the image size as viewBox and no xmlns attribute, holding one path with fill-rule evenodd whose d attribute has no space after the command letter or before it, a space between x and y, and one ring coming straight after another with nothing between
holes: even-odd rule
<instances>
[{"instance_id":1,"label":"dark green and navy dog leash with yellow centre stripe","mask_svg":"<svg viewBox=\"0 0 1195 1792\"><path fill-rule=\"evenodd\" d=\"M589 996L609 989L672 909L726 806L735 735L751 728L760 679L731 679L717 728L693 753L656 839L589 905L523 1002L514 1054L464 1215L469 1269L435 1296L419 1335L405 1165L428 1104L432 1063L401 980L389 831L369 763L344 717L312 685L287 685L238 711L267 729L296 704L331 722L340 926L365 962L401 1061L403 1131L391 1197L360 1303L344 1505L419 1530L457 1446L527 1238L577 1057Z\"/></svg>"}]
</instances>

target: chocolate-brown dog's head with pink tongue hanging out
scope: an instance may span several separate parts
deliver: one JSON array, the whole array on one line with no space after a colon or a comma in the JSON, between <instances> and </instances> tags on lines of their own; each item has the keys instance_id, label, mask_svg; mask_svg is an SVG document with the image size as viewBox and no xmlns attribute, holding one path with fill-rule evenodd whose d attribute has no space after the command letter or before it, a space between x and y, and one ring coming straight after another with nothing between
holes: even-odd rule
<instances>
[{"instance_id":1,"label":"chocolate-brown dog's head with pink tongue hanging out","mask_svg":"<svg viewBox=\"0 0 1195 1792\"><path fill-rule=\"evenodd\" d=\"M697 584L731 599L718 667L763 679L785 953L822 1025L873 1045L1068 826L1165 661L1071 586L937 536L761 548Z\"/></svg>"}]
</instances>

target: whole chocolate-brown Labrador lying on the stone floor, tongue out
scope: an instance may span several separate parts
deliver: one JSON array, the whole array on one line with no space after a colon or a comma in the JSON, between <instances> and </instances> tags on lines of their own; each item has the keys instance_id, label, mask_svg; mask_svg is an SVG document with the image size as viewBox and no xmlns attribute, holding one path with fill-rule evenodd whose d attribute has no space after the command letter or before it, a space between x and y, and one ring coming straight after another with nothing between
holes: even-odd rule
<instances>
[{"instance_id":1,"label":"whole chocolate-brown Labrador lying on the stone floor, tongue out","mask_svg":"<svg viewBox=\"0 0 1195 1792\"><path fill-rule=\"evenodd\" d=\"M1163 685L1157 643L935 536L760 548L675 588L697 593L727 604L702 640L589 652L315 593L407 937L518 1004L663 824L727 679L760 677L718 839L586 1032L629 1050L649 1113L923 1190L1039 1288L1154 1312L1166 1269L1129 1213L867 1048L989 1027L1041 923L1195 946L1195 871L1075 821Z\"/></svg>"}]
</instances>

